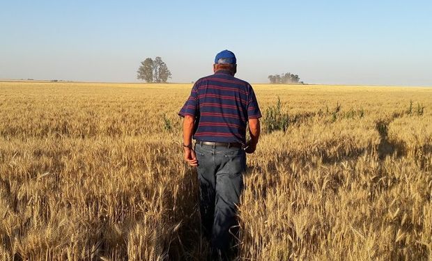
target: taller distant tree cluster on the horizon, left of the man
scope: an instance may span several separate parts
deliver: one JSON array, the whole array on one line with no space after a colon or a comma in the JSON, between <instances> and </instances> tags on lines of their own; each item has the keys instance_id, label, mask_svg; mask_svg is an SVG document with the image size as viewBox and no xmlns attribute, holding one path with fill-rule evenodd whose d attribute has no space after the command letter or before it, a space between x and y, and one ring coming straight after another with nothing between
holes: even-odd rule
<instances>
[{"instance_id":1,"label":"taller distant tree cluster on the horizon, left of the man","mask_svg":"<svg viewBox=\"0 0 432 261\"><path fill-rule=\"evenodd\" d=\"M165 83L168 78L171 78L171 72L162 58L157 56L155 60L146 58L141 62L137 70L137 79L144 80L148 83Z\"/></svg>"}]
</instances>

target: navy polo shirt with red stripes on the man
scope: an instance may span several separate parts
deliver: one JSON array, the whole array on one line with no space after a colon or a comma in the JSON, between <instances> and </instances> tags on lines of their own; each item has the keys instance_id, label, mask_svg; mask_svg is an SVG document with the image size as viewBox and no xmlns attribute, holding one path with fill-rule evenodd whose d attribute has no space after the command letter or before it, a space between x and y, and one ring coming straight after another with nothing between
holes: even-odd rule
<instances>
[{"instance_id":1,"label":"navy polo shirt with red stripes on the man","mask_svg":"<svg viewBox=\"0 0 432 261\"><path fill-rule=\"evenodd\" d=\"M197 141L245 144L247 120L261 118L261 111L250 84L218 70L195 82L178 115L195 116Z\"/></svg>"}]
</instances>

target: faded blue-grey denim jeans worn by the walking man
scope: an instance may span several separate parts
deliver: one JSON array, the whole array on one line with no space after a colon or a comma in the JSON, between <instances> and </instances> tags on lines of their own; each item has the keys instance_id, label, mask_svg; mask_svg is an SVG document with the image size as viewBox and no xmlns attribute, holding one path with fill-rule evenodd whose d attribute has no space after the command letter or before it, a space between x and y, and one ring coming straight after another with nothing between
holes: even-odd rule
<instances>
[{"instance_id":1,"label":"faded blue-grey denim jeans worn by the walking man","mask_svg":"<svg viewBox=\"0 0 432 261\"><path fill-rule=\"evenodd\" d=\"M246 154L242 148L195 145L204 235L213 249L227 253L238 230L237 205L243 189Z\"/></svg>"}]
</instances>

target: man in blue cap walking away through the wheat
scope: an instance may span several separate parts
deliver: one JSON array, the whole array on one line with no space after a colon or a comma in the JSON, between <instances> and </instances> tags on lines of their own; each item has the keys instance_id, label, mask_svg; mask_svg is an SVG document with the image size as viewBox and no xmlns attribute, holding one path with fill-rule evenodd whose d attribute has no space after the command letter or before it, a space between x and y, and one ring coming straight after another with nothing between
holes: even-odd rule
<instances>
[{"instance_id":1,"label":"man in blue cap walking away through the wheat","mask_svg":"<svg viewBox=\"0 0 432 261\"><path fill-rule=\"evenodd\" d=\"M226 258L236 227L245 153L256 150L261 111L252 86L234 77L233 52L219 52L213 71L215 74L196 81L178 115L185 118L185 161L197 166L204 235L211 240L213 251ZM247 123L251 139L246 142Z\"/></svg>"}]
</instances>

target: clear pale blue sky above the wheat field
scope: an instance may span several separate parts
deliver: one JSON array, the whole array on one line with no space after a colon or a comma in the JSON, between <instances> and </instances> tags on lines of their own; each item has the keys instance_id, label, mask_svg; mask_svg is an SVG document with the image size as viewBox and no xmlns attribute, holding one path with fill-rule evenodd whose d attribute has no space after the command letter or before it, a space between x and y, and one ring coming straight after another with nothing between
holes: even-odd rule
<instances>
[{"instance_id":1,"label":"clear pale blue sky above the wheat field","mask_svg":"<svg viewBox=\"0 0 432 261\"><path fill-rule=\"evenodd\" d=\"M432 1L5 1L0 79L137 82L162 57L171 82L292 72L308 84L432 86Z\"/></svg>"}]
</instances>

